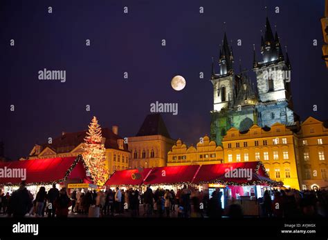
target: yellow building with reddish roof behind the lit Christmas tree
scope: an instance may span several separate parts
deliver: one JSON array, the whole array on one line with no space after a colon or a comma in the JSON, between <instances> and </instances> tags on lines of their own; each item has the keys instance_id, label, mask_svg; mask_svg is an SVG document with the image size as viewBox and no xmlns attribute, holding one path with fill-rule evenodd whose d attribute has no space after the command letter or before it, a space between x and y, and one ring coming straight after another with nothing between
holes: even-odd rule
<instances>
[{"instance_id":1,"label":"yellow building with reddish roof behind the lit Christmas tree","mask_svg":"<svg viewBox=\"0 0 328 240\"><path fill-rule=\"evenodd\" d=\"M28 159L50 159L55 157L77 157L82 154L86 130L80 132L62 132L62 136L51 139L42 145L36 144ZM129 168L130 153L124 139L118 135L118 126L102 128L106 168L109 172Z\"/></svg>"}]
</instances>

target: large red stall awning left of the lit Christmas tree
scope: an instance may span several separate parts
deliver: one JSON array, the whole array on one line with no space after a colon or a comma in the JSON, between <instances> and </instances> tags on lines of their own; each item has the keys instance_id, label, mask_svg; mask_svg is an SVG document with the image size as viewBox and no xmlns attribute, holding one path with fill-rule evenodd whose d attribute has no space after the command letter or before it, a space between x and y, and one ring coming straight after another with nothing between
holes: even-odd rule
<instances>
[{"instance_id":1,"label":"large red stall awning left of the lit Christmas tree","mask_svg":"<svg viewBox=\"0 0 328 240\"><path fill-rule=\"evenodd\" d=\"M27 185L48 185L60 183L66 179L86 179L86 170L82 157L56 157L53 159L30 159L0 163L5 170L26 170ZM19 185L19 177L0 177L0 185Z\"/></svg>"}]
</instances>

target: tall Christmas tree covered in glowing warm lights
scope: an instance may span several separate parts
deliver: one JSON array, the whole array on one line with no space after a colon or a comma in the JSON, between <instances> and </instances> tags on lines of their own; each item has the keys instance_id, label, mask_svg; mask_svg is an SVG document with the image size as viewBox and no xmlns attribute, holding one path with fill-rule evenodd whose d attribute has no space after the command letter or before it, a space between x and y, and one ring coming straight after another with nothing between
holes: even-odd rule
<instances>
[{"instance_id":1,"label":"tall Christmas tree covered in glowing warm lights","mask_svg":"<svg viewBox=\"0 0 328 240\"><path fill-rule=\"evenodd\" d=\"M105 148L102 144L101 128L96 117L93 117L89 131L84 138L83 159L88 166L93 183L103 186L108 178L108 171L105 168L104 158Z\"/></svg>"}]
</instances>

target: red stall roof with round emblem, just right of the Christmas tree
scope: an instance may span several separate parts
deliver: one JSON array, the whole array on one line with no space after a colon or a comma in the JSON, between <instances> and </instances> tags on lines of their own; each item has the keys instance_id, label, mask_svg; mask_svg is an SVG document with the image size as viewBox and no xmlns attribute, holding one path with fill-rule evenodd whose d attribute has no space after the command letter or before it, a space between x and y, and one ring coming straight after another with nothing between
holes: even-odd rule
<instances>
[{"instance_id":1,"label":"red stall roof with round emblem, just right of the Christmas tree","mask_svg":"<svg viewBox=\"0 0 328 240\"><path fill-rule=\"evenodd\" d=\"M151 170L152 168L144 168L141 171L131 169L113 172L105 183L105 186L141 185Z\"/></svg>"}]
</instances>

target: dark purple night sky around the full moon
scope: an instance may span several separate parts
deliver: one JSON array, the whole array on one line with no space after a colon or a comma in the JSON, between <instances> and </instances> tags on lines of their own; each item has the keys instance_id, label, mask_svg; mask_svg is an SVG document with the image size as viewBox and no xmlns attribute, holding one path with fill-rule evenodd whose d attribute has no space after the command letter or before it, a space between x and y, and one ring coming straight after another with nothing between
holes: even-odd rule
<instances>
[{"instance_id":1,"label":"dark purple night sky around the full moon","mask_svg":"<svg viewBox=\"0 0 328 240\"><path fill-rule=\"evenodd\" d=\"M324 1L2 1L0 2L0 141L10 159L62 131L85 130L95 115L134 136L156 101L179 103L163 114L171 137L196 143L210 133L211 57L233 41L235 72L260 60L266 10L291 59L294 110L328 119L328 70L321 59ZM48 13L48 6L53 13ZM128 7L128 14L123 8ZM200 7L204 13L199 13ZM275 13L275 6L280 13ZM226 21L226 27L224 27ZM10 46L15 39L15 46ZM86 39L91 46L86 46ZM162 39L166 46L161 46ZM237 46L242 39L242 46ZM318 39L318 46L313 46ZM284 49L284 48L283 48ZM218 72L218 63L216 64ZM38 71L66 70L66 82L40 81ZM128 72L128 79L123 78ZM204 79L199 79L199 72ZM187 81L176 92L174 75ZM255 74L250 70L254 81ZM86 112L86 105L91 111ZM313 112L313 105L318 112ZM15 105L15 112L10 111Z\"/></svg>"}]
</instances>

